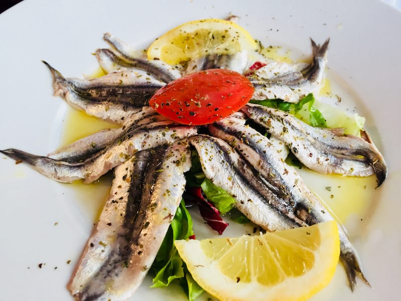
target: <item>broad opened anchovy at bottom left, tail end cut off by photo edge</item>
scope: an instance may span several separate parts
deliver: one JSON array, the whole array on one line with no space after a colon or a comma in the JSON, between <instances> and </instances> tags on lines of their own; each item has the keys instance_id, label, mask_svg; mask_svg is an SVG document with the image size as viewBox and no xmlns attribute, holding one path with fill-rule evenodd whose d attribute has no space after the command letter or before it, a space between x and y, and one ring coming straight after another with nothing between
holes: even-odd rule
<instances>
[{"instance_id":1,"label":"broad opened anchovy at bottom left, tail end cut off by photo edge","mask_svg":"<svg viewBox=\"0 0 401 301\"><path fill-rule=\"evenodd\" d=\"M190 168L187 142L144 150L115 169L111 192L68 289L77 300L125 300L151 266Z\"/></svg>"}]
</instances>

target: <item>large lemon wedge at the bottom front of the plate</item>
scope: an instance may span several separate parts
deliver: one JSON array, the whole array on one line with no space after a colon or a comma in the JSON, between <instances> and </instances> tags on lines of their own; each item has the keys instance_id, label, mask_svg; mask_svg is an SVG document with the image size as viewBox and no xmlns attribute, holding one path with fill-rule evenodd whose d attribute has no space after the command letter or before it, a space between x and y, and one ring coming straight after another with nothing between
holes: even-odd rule
<instances>
[{"instance_id":1,"label":"large lemon wedge at the bottom front of the plate","mask_svg":"<svg viewBox=\"0 0 401 301\"><path fill-rule=\"evenodd\" d=\"M332 276L337 224L324 222L256 236L177 240L193 279L222 300L305 300Z\"/></svg>"}]
</instances>

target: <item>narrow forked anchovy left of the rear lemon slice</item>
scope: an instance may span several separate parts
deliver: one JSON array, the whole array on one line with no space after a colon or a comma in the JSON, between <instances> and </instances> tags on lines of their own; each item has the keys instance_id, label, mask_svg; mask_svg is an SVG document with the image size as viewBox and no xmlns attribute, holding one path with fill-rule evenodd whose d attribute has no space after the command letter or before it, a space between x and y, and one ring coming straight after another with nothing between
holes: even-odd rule
<instances>
[{"instance_id":1,"label":"narrow forked anchovy left of the rear lemon slice","mask_svg":"<svg viewBox=\"0 0 401 301\"><path fill-rule=\"evenodd\" d=\"M113 60L116 65L145 70L165 83L181 77L181 73L174 67L160 60L148 60L144 54L132 49L110 33L105 33L103 39L117 51L118 54L112 51L106 53L109 55L109 60Z\"/></svg>"}]
</instances>

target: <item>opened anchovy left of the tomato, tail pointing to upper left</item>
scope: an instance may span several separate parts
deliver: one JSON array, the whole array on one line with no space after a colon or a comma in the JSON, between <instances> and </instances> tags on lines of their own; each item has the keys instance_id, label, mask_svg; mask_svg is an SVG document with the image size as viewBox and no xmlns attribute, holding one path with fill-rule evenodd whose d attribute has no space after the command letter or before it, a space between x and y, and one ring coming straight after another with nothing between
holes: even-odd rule
<instances>
[{"instance_id":1,"label":"opened anchovy left of the tomato, tail pointing to upper left","mask_svg":"<svg viewBox=\"0 0 401 301\"><path fill-rule=\"evenodd\" d=\"M134 71L114 72L91 80L65 78L44 63L52 73L55 96L88 115L119 124L139 112L154 92L165 85Z\"/></svg>"}]
</instances>

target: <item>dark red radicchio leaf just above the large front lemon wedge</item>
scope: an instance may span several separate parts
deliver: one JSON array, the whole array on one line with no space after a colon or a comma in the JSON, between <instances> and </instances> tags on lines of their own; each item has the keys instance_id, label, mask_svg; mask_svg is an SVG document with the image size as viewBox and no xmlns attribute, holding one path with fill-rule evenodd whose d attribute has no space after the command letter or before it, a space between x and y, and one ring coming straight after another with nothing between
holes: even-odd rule
<instances>
[{"instance_id":1,"label":"dark red radicchio leaf just above the large front lemon wedge","mask_svg":"<svg viewBox=\"0 0 401 301\"><path fill-rule=\"evenodd\" d=\"M192 200L196 199L202 218L213 230L222 235L229 224L220 217L220 212L215 205L203 196L202 188L190 187L186 190L185 196Z\"/></svg>"}]
</instances>

